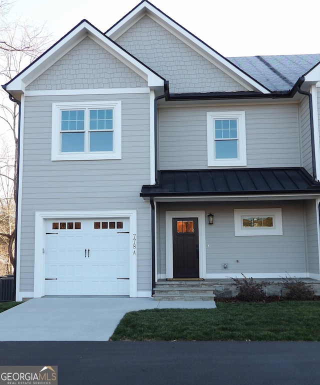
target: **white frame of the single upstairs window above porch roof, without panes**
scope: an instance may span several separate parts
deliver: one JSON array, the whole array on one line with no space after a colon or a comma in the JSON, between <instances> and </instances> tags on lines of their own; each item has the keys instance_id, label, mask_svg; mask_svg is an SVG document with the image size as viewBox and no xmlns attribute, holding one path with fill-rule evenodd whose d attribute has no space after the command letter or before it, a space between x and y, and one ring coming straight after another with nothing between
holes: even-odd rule
<instances>
[{"instance_id":1,"label":"white frame of the single upstairs window above porch roof, without panes","mask_svg":"<svg viewBox=\"0 0 320 385\"><path fill-rule=\"evenodd\" d=\"M215 158L214 120L237 120L237 158ZM209 167L246 166L245 112L211 111L206 113L207 157Z\"/></svg>"}]
</instances>

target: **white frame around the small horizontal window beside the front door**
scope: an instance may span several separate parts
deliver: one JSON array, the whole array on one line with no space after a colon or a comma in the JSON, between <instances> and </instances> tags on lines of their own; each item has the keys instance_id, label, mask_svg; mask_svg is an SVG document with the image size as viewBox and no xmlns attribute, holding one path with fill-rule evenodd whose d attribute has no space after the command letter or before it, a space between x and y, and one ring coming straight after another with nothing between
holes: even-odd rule
<instances>
[{"instance_id":1,"label":"white frame around the small horizontal window beside the front door","mask_svg":"<svg viewBox=\"0 0 320 385\"><path fill-rule=\"evenodd\" d=\"M243 227L242 218L246 216L271 216L272 227ZM235 208L234 209L234 234L246 235L282 235L281 208Z\"/></svg>"}]
</instances>

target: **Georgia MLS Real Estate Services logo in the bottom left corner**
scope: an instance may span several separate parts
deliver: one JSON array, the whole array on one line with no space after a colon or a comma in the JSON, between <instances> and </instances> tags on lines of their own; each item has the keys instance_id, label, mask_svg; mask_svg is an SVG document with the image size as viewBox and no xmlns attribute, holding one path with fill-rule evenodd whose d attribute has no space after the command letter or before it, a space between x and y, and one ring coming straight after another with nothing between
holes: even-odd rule
<instances>
[{"instance_id":1,"label":"Georgia MLS Real Estate Services logo in the bottom left corner","mask_svg":"<svg viewBox=\"0 0 320 385\"><path fill-rule=\"evenodd\" d=\"M0 366L0 385L57 385L57 366Z\"/></svg>"}]
</instances>

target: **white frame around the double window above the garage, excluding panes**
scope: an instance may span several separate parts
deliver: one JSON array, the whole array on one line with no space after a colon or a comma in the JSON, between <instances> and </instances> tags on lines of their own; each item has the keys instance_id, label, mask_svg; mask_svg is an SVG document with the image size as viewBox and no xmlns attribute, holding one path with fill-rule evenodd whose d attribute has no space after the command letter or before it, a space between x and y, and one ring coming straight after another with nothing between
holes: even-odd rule
<instances>
[{"instance_id":1,"label":"white frame around the double window above the garage, excluding panes","mask_svg":"<svg viewBox=\"0 0 320 385\"><path fill-rule=\"evenodd\" d=\"M72 109L112 109L113 149L112 151L61 152L61 111ZM51 160L94 160L121 159L121 100L66 101L52 103Z\"/></svg>"}]
</instances>

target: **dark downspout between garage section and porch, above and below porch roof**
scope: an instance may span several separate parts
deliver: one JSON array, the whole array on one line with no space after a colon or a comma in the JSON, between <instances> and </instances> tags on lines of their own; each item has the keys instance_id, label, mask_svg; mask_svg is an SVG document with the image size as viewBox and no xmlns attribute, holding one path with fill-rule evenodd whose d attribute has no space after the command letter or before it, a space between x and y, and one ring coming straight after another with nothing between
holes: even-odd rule
<instances>
[{"instance_id":1,"label":"dark downspout between garage section and porch, above and below porch roof","mask_svg":"<svg viewBox=\"0 0 320 385\"><path fill-rule=\"evenodd\" d=\"M164 93L154 98L154 177L155 184L158 180L158 136L157 136L157 101L169 94L169 82L164 80ZM155 206L153 197L150 197L151 205L151 295L154 295L155 287Z\"/></svg>"}]
</instances>

